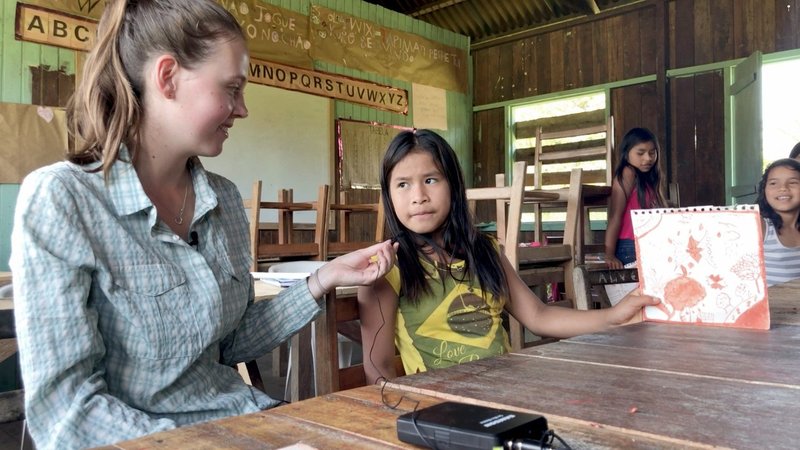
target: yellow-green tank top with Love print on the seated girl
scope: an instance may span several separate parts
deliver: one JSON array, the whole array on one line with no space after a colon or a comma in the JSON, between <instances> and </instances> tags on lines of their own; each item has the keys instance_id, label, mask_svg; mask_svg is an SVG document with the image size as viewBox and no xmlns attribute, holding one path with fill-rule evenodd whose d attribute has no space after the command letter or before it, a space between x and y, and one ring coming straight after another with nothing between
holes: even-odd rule
<instances>
[{"instance_id":1,"label":"yellow-green tank top with Love print on the seated girl","mask_svg":"<svg viewBox=\"0 0 800 450\"><path fill-rule=\"evenodd\" d=\"M386 275L399 297L395 345L406 374L507 353L510 344L502 323L505 299L491 293L484 299L477 280L473 284L461 276L463 261L451 264L451 270L425 260L422 264L430 274L431 293L424 294L417 305L400 295L401 273L396 265Z\"/></svg>"}]
</instances>

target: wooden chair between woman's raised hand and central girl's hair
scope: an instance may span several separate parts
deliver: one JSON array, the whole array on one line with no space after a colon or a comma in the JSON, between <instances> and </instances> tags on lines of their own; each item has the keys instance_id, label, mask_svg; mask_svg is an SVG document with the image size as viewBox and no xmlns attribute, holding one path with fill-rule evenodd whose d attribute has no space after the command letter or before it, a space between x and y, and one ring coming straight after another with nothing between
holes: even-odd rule
<instances>
[{"instance_id":1,"label":"wooden chair between woman's raised hand and central girl's hair","mask_svg":"<svg viewBox=\"0 0 800 450\"><path fill-rule=\"evenodd\" d=\"M376 203L348 203L346 193L342 192L339 203L330 205L330 214L336 215L337 239L327 241L328 258L369 247L384 239L385 218L380 193ZM362 219L358 223L361 229L355 229L357 227L353 226L353 222L357 219ZM374 233L369 232L369 236L364 238L366 232L373 229Z\"/></svg>"}]
</instances>

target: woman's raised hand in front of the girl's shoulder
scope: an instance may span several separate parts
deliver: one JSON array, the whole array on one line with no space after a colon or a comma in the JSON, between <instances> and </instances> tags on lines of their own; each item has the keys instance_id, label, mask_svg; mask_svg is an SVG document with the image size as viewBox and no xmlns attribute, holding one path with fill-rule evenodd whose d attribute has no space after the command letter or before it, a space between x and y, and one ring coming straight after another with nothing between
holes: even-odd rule
<instances>
[{"instance_id":1,"label":"woman's raised hand in front of the girl's shoulder","mask_svg":"<svg viewBox=\"0 0 800 450\"><path fill-rule=\"evenodd\" d=\"M316 278L316 283L309 281L311 293L319 298L337 286L364 286L374 283L394 265L397 245L387 240L330 261L312 275L312 278ZM322 292L314 292L315 288Z\"/></svg>"}]
</instances>

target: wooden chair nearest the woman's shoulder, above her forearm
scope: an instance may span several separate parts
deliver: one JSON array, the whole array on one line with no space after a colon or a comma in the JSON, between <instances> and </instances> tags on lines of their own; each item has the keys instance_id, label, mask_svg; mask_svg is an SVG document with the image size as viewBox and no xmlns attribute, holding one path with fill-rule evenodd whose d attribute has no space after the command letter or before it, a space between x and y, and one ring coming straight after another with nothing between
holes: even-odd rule
<instances>
[{"instance_id":1,"label":"wooden chair nearest the woman's shoulder, above her forearm","mask_svg":"<svg viewBox=\"0 0 800 450\"><path fill-rule=\"evenodd\" d=\"M281 189L277 202L261 201L261 180L253 183L250 200L245 200L245 208L249 210L250 219L250 251L253 262L251 270L257 272L259 263L292 259L324 261L327 258L328 239L328 185L319 187L317 200L311 202L295 202L291 189ZM276 243L261 241L260 216L263 210L274 210L278 214L278 238ZM296 242L294 213L314 211L314 241Z\"/></svg>"}]
</instances>

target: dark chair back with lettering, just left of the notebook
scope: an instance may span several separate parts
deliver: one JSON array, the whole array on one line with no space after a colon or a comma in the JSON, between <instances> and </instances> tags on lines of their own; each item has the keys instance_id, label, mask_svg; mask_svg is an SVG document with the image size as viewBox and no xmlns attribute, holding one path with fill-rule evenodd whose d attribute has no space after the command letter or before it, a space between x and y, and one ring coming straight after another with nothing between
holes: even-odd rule
<instances>
[{"instance_id":1,"label":"dark chair back with lettering, just left of the notebook","mask_svg":"<svg viewBox=\"0 0 800 450\"><path fill-rule=\"evenodd\" d=\"M604 267L589 268L584 264L575 267L572 272L575 283L575 307L577 309L600 309L610 307L611 304L603 290L609 284L638 283L639 272L637 269L606 269Z\"/></svg>"}]
</instances>

